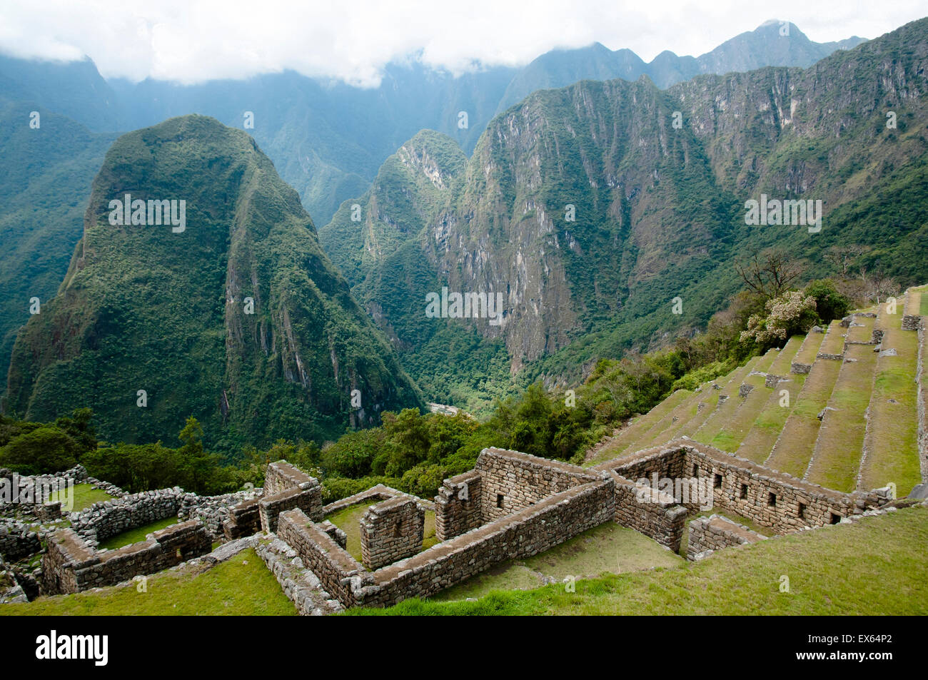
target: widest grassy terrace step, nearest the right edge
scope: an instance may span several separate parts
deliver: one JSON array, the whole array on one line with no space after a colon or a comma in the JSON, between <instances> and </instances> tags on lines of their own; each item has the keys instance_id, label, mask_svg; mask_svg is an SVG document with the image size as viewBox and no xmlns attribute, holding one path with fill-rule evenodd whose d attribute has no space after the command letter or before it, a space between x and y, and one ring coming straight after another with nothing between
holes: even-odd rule
<instances>
[{"instance_id":1,"label":"widest grassy terrace step, nearest the right edge","mask_svg":"<svg viewBox=\"0 0 928 680\"><path fill-rule=\"evenodd\" d=\"M880 356L876 360L859 489L870 491L894 481L896 494L903 496L922 481L917 386L913 378L918 342L918 333L910 330L890 328L883 335L883 349L895 349L897 356Z\"/></svg>"}]
</instances>

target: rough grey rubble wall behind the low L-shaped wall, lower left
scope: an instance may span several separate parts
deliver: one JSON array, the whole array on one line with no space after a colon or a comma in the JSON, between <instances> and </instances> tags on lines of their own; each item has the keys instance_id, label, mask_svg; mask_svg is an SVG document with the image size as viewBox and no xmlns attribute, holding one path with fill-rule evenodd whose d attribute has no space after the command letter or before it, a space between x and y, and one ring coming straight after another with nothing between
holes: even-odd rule
<instances>
[{"instance_id":1,"label":"rough grey rubble wall behind the low L-shaped wall, lower left","mask_svg":"<svg viewBox=\"0 0 928 680\"><path fill-rule=\"evenodd\" d=\"M183 496L183 489L175 486L96 503L81 512L71 513L71 529L84 539L99 543L153 521L175 517Z\"/></svg>"}]
</instances>

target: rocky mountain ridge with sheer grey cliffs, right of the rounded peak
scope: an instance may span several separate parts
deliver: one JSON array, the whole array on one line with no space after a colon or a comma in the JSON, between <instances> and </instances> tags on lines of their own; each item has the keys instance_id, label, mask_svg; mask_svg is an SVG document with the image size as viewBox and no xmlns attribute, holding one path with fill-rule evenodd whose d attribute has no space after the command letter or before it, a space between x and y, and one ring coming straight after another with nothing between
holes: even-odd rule
<instances>
[{"instance_id":1,"label":"rocky mountain ridge with sheer grey cliffs, right of the rounded peak","mask_svg":"<svg viewBox=\"0 0 928 680\"><path fill-rule=\"evenodd\" d=\"M434 272L435 287L502 291L500 326L423 319L422 289L411 284L408 314L505 341L512 372L530 365L531 375L561 379L577 378L591 357L702 325L739 287L732 260L768 247L823 276L826 251L852 244L867 250L870 271L923 280L926 55L922 19L806 70L535 92L489 123L418 253L406 245L402 263L386 259L368 278L399 280L402 267ZM762 195L820 201L820 231L745 225L746 201ZM378 310L398 297L358 293ZM672 314L677 297L682 314ZM389 311L378 321L411 327Z\"/></svg>"}]
</instances>

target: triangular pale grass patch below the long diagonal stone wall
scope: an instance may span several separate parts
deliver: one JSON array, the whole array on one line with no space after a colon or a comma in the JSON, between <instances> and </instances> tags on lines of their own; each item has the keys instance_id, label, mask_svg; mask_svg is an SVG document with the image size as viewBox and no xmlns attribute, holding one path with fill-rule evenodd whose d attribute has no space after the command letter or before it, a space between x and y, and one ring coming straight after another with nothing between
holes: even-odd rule
<instances>
[{"instance_id":1,"label":"triangular pale grass patch below the long diagonal stone wall","mask_svg":"<svg viewBox=\"0 0 928 680\"><path fill-rule=\"evenodd\" d=\"M563 581L603 573L677 567L683 560L655 541L609 521L531 558L510 559L442 591L434 600L483 597L494 590L537 588L545 579Z\"/></svg>"}]
</instances>

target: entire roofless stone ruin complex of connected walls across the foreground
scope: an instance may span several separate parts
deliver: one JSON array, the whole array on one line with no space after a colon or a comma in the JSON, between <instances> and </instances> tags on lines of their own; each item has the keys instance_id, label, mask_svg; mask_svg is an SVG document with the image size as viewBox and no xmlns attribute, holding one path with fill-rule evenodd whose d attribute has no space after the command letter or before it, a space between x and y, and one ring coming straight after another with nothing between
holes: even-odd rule
<instances>
[{"instance_id":1,"label":"entire roofless stone ruin complex of connected walls across the foreground","mask_svg":"<svg viewBox=\"0 0 928 680\"><path fill-rule=\"evenodd\" d=\"M694 489L711 490L713 507L775 534L837 523L889 500L885 490L824 489L685 437L594 468L487 448L473 469L443 482L433 503L377 485L323 506L316 479L277 461L267 468L264 489L213 497L161 490L72 513L76 528L45 536L39 586L55 594L119 584L205 555L218 539L251 541L302 614L390 606L539 554L607 521L677 551L687 519L705 498L655 489L656 478L689 479ZM360 561L347 551L345 532L324 519L357 504L369 506L359 521ZM422 549L429 510L439 543ZM184 521L119 550L96 548L105 536L171 513ZM0 554L8 549L2 537ZM27 551L37 549L38 538L22 539ZM702 518L690 523L688 558L761 540L724 517ZM6 600L24 597L17 593L9 589Z\"/></svg>"}]
</instances>

